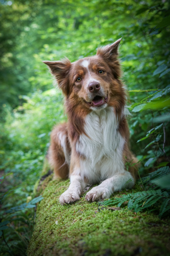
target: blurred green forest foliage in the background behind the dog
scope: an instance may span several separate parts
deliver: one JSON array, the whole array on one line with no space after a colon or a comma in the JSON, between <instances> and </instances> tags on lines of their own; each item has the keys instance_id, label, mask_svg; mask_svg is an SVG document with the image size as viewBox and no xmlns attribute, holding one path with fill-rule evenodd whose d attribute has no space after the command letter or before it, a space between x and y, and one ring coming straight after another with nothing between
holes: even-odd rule
<instances>
[{"instance_id":1,"label":"blurred green forest foliage in the background behind the dog","mask_svg":"<svg viewBox=\"0 0 170 256\"><path fill-rule=\"evenodd\" d=\"M131 148L141 160L140 174L169 166L169 1L1 0L0 6L0 171L1 176L12 172L2 195L18 186L3 200L1 221L11 221L15 214L8 217L6 210L32 196L50 131L66 120L62 93L53 88L42 60L75 61L122 38ZM33 213L24 214L32 220ZM18 221L20 226L29 230ZM16 237L7 236L6 242L10 239ZM9 246L7 254L19 255L15 243Z\"/></svg>"}]
</instances>

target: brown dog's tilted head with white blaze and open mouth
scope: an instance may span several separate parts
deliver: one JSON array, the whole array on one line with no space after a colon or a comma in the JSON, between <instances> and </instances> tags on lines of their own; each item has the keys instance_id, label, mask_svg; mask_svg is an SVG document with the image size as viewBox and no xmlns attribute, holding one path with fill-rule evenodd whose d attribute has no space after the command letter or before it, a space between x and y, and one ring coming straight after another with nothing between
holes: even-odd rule
<instances>
[{"instance_id":1,"label":"brown dog's tilted head with white blaze and open mouth","mask_svg":"<svg viewBox=\"0 0 170 256\"><path fill-rule=\"evenodd\" d=\"M81 105L91 110L107 106L120 108L125 105L125 92L120 76L118 45L115 43L98 48L95 56L70 63L63 61L43 61L56 77L59 88L72 105Z\"/></svg>"}]
</instances>

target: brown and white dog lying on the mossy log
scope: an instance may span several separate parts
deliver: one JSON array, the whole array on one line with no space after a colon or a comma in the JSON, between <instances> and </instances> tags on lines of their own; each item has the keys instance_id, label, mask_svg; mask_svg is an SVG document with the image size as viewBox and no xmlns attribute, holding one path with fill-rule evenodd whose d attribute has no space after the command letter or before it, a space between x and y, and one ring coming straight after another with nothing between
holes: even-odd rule
<instances>
[{"instance_id":1,"label":"brown and white dog lying on the mossy log","mask_svg":"<svg viewBox=\"0 0 170 256\"><path fill-rule=\"evenodd\" d=\"M48 154L54 175L70 177L69 188L59 197L61 204L79 200L92 184L100 183L87 192L87 201L109 198L134 185L137 160L129 150L120 41L74 63L43 61L62 89L68 117L67 123L54 127Z\"/></svg>"}]
</instances>

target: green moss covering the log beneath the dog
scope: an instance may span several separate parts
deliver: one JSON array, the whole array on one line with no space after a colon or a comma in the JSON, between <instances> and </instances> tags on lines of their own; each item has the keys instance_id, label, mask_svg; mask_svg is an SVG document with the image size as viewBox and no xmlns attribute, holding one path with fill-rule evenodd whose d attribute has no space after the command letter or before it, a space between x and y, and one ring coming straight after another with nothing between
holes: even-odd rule
<instances>
[{"instance_id":1,"label":"green moss covering the log beneath the dog","mask_svg":"<svg viewBox=\"0 0 170 256\"><path fill-rule=\"evenodd\" d=\"M154 214L134 214L126 208L112 212L88 203L85 194L74 204L60 205L59 195L69 180L48 179L47 184L46 179L28 255L169 254L169 218L159 220Z\"/></svg>"}]
</instances>

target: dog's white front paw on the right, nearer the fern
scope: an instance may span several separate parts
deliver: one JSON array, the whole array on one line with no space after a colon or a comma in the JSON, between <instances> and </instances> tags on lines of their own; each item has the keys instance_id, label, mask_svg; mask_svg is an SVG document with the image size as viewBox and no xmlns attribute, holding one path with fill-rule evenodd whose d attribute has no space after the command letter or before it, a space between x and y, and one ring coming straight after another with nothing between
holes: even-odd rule
<instances>
[{"instance_id":1,"label":"dog's white front paw on the right, nearer the fern","mask_svg":"<svg viewBox=\"0 0 170 256\"><path fill-rule=\"evenodd\" d=\"M107 188L103 187L94 187L86 194L87 201L96 201L96 200L103 200L105 198L109 198L111 196L111 192Z\"/></svg>"}]
</instances>

